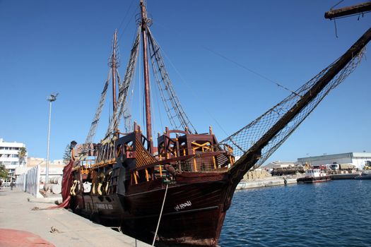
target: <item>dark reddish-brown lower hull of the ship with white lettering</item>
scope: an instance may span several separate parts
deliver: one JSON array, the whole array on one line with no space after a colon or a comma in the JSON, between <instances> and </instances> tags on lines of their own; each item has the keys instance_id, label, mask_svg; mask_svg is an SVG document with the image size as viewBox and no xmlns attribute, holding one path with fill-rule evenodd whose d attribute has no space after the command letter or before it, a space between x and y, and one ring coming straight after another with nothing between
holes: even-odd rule
<instances>
[{"instance_id":1,"label":"dark reddish-brown lower hull of the ship with white lettering","mask_svg":"<svg viewBox=\"0 0 371 247\"><path fill-rule=\"evenodd\" d=\"M156 246L216 246L227 208L225 175L188 176L179 181L168 186L166 197L165 185L135 193L143 191L138 185L128 195L76 195L70 207L79 215L107 227L121 227L124 234L152 243L165 200Z\"/></svg>"}]
</instances>

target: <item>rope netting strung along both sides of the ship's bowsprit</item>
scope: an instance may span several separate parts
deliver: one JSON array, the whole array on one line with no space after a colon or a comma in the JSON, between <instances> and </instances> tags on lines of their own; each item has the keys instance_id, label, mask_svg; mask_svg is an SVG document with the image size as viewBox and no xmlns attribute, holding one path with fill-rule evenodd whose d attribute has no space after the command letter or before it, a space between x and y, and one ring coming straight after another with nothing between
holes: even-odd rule
<instances>
[{"instance_id":1,"label":"rope netting strung along both sides of the ship's bowsprit","mask_svg":"<svg viewBox=\"0 0 371 247\"><path fill-rule=\"evenodd\" d=\"M268 159L274 151L290 136L293 131L302 123L302 121L307 118L307 116L317 107L319 102L321 102L324 97L329 94L331 90L336 88L345 78L352 73L355 67L360 63L363 57L363 50L359 52L357 56L353 56L351 61L341 69L339 73L336 74L334 78L324 87L324 89L319 92L317 97L314 97L307 105L301 109L301 111L291 119L288 123L285 123L285 126L281 128L278 133L273 135L267 143L264 143L264 147L261 149L261 158L259 161L254 165L254 168L257 168L263 164L266 159ZM339 59L338 59L339 60ZM336 61L338 61L336 60ZM269 109L268 112L262 114L257 119L249 123L247 126L241 128L239 131L233 133L225 140L222 140L221 144L227 144L233 148L233 154L235 155L235 159L239 159L245 153L249 152L249 150L264 139L264 136L272 131L273 126L278 123L278 121L288 113L295 104L298 104L299 100L302 99L302 96L310 92L312 87L325 75L326 72L330 70L330 68L336 64L336 61L321 71L317 76L314 76L310 81L302 85L298 90L295 90L295 93L290 94L284 100L276 104L273 108Z\"/></svg>"}]
</instances>

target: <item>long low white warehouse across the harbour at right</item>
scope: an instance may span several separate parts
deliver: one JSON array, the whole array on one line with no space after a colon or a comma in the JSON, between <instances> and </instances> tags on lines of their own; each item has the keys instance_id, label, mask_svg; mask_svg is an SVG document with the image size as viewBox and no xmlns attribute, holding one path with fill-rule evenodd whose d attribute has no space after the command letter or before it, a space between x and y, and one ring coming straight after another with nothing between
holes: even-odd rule
<instances>
[{"instance_id":1,"label":"long low white warehouse across the harbour at right","mask_svg":"<svg viewBox=\"0 0 371 247\"><path fill-rule=\"evenodd\" d=\"M363 169L365 163L371 161L371 152L346 152L336 155L321 155L314 157L298 158L301 164L310 163L312 166L321 164L353 164L358 169Z\"/></svg>"}]
</instances>

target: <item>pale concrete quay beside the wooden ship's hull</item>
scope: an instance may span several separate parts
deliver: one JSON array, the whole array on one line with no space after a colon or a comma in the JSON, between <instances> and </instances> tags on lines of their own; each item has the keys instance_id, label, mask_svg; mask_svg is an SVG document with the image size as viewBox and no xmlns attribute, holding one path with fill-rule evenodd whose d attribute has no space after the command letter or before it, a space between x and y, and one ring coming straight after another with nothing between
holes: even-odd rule
<instances>
[{"instance_id":1,"label":"pale concrete quay beside the wooden ship's hull","mask_svg":"<svg viewBox=\"0 0 371 247\"><path fill-rule=\"evenodd\" d=\"M29 231L54 246L150 246L65 209L44 209L47 204L33 199L33 195L15 188L0 190L0 229ZM1 236L0 236L1 246Z\"/></svg>"}]
</instances>

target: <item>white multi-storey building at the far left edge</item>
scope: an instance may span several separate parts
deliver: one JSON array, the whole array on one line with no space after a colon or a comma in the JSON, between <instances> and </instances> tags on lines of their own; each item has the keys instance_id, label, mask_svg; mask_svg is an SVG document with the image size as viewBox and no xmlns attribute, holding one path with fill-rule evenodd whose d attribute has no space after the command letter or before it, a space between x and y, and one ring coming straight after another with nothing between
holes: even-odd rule
<instances>
[{"instance_id":1,"label":"white multi-storey building at the far left edge","mask_svg":"<svg viewBox=\"0 0 371 247\"><path fill-rule=\"evenodd\" d=\"M23 159L19 159L18 152L20 147L25 147L23 143L6 143L0 138L0 164L4 164L8 169L8 176L13 177L17 167L27 166L27 152Z\"/></svg>"}]
</instances>

